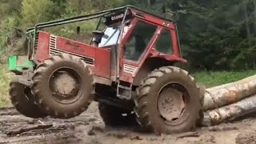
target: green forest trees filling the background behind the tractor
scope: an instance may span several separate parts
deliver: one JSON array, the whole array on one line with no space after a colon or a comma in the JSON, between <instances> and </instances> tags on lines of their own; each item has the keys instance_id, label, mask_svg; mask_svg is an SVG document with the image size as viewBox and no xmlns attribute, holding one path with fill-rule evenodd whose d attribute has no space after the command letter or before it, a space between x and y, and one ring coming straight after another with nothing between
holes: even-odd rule
<instances>
[{"instance_id":1,"label":"green forest trees filling the background behind the tractor","mask_svg":"<svg viewBox=\"0 0 256 144\"><path fill-rule=\"evenodd\" d=\"M182 55L194 69L234 70L256 67L256 2L254 0L0 0L0 62L6 62L6 38L12 27L22 30L38 22L90 14L124 6L141 7L178 22ZM162 14L162 6L166 14ZM74 38L80 26L90 38L95 21L50 28L50 32ZM17 42L16 42L17 43Z\"/></svg>"}]
</instances>

